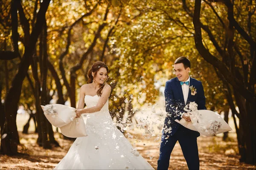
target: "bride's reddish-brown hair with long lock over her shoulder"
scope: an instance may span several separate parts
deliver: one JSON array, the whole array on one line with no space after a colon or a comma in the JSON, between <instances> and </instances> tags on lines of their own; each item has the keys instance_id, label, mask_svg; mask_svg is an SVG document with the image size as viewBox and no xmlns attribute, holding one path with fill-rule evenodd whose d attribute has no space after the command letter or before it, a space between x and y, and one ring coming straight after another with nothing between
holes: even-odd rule
<instances>
[{"instance_id":1,"label":"bride's reddish-brown hair with long lock over her shoulder","mask_svg":"<svg viewBox=\"0 0 256 170\"><path fill-rule=\"evenodd\" d=\"M87 84L89 83L92 83L94 82L94 78L93 78L93 75L92 73L95 73L95 76L97 75L97 72L99 71L100 68L106 68L107 69L107 79L108 79L108 66L104 63L104 62L101 62L101 61L97 61L97 62L94 62L92 67L90 68L90 70L88 71L88 81L87 81ZM99 86L99 90L97 91L97 95L98 96L101 96L102 95L102 89L105 85L105 82L103 84L101 84Z\"/></svg>"}]
</instances>

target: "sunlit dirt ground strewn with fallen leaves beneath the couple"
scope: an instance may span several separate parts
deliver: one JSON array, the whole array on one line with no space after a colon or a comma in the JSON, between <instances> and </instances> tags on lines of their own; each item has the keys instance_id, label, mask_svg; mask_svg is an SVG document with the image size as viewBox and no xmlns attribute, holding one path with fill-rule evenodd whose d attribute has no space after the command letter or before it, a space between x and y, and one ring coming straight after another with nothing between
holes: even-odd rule
<instances>
[{"instance_id":1,"label":"sunlit dirt ground strewn with fallen leaves beneath the couple","mask_svg":"<svg viewBox=\"0 0 256 170\"><path fill-rule=\"evenodd\" d=\"M157 136L145 139L141 134L130 132L133 139L129 139L131 144L137 148L140 154L156 169L159 156L159 140ZM230 136L233 136L232 133ZM19 154L17 156L0 156L0 169L53 169L56 164L65 156L69 150L72 141L60 138L55 134L61 147L55 147L52 150L43 149L36 144L37 134L24 135L20 133ZM239 163L237 155L236 139L231 137L229 142L222 142L221 137L211 136L198 138L200 169L202 170L255 170L256 166ZM179 144L171 155L169 169L187 170L186 161L183 157Z\"/></svg>"}]
</instances>

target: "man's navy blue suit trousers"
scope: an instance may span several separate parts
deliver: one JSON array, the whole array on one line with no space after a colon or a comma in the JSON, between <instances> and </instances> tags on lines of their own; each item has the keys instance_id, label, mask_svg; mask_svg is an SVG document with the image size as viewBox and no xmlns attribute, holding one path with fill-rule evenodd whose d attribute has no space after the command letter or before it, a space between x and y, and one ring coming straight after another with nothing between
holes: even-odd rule
<instances>
[{"instance_id":1,"label":"man's navy blue suit trousers","mask_svg":"<svg viewBox=\"0 0 256 170\"><path fill-rule=\"evenodd\" d=\"M160 144L160 156L157 161L157 170L168 170L170 156L177 141L180 143L183 156L186 159L189 170L199 170L199 156L197 137L200 134L180 125L173 136L162 135Z\"/></svg>"}]
</instances>

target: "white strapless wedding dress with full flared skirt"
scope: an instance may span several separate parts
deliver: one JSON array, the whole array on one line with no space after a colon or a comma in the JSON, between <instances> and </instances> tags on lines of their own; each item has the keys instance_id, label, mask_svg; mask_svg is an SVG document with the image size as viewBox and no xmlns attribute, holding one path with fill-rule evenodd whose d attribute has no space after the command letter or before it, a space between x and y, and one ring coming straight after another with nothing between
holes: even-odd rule
<instances>
[{"instance_id":1,"label":"white strapless wedding dress with full flared skirt","mask_svg":"<svg viewBox=\"0 0 256 170\"><path fill-rule=\"evenodd\" d=\"M97 104L99 96L84 97L87 107ZM108 101L101 111L86 115L88 136L79 137L54 169L76 170L154 170L113 124Z\"/></svg>"}]
</instances>

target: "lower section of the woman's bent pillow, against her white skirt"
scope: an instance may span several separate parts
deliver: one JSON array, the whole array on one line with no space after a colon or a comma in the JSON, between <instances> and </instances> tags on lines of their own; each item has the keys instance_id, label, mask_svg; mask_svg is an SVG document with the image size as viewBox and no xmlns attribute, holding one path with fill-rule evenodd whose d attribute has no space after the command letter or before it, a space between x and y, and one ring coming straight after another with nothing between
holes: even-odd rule
<instances>
[{"instance_id":1,"label":"lower section of the woman's bent pillow, against her white skirt","mask_svg":"<svg viewBox=\"0 0 256 170\"><path fill-rule=\"evenodd\" d=\"M61 133L64 136L70 137L70 138L78 138L87 136L86 129L85 129L85 123L82 116L79 118L75 118L72 122L69 124L60 127Z\"/></svg>"}]
</instances>

